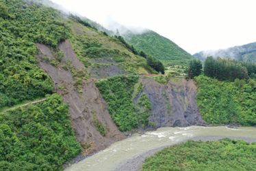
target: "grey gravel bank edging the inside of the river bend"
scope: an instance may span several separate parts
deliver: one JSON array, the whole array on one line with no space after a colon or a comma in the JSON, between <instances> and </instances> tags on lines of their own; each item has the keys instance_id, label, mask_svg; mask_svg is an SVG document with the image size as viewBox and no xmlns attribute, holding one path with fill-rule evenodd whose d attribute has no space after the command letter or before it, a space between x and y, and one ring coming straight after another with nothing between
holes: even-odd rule
<instances>
[{"instance_id":1,"label":"grey gravel bank edging the inside of the river bend","mask_svg":"<svg viewBox=\"0 0 256 171\"><path fill-rule=\"evenodd\" d=\"M244 138L244 137L223 137L223 136L202 136L202 137L194 137L191 138L190 140L196 140L196 141L216 141L216 140L220 140L222 138L230 138L230 139L234 139L234 140L244 140L246 142L256 142L255 138ZM184 142L187 140L184 140ZM133 157L132 159L129 159L125 162L123 162L122 164L120 164L119 166L116 167L115 171L138 171L138 170L142 170L142 164L144 163L144 160L147 157L150 157L151 155L154 155L155 153L157 153L158 151L161 151L162 149L165 149L169 146L162 146L160 148L157 149L153 149L151 151L148 151L146 153L143 153L142 155L138 155L136 157Z\"/></svg>"}]
</instances>

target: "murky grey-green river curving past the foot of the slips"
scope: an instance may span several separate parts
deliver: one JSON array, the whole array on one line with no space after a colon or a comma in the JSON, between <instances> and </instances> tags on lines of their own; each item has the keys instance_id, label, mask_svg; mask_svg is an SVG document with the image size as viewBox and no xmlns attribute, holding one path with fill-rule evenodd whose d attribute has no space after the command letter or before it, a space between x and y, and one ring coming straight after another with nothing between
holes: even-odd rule
<instances>
[{"instance_id":1,"label":"murky grey-green river curving past the foot of the slips","mask_svg":"<svg viewBox=\"0 0 256 171\"><path fill-rule=\"evenodd\" d=\"M256 127L162 127L145 134L134 134L130 138L115 142L107 149L79 161L65 171L109 171L115 170L123 162L138 155L159 149L162 146L177 144L196 137L224 136L255 138Z\"/></svg>"}]
</instances>

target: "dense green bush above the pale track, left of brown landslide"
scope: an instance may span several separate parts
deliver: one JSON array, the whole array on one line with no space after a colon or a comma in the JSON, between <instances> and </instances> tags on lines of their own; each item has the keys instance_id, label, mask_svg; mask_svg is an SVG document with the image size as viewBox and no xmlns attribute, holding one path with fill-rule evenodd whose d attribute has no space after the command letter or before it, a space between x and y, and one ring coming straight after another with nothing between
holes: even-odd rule
<instances>
[{"instance_id":1,"label":"dense green bush above the pale track, left of brown landslide","mask_svg":"<svg viewBox=\"0 0 256 171\"><path fill-rule=\"evenodd\" d=\"M21 0L0 1L0 108L44 97L53 84L37 66L35 43L56 48L68 37L60 13Z\"/></svg>"}]
</instances>

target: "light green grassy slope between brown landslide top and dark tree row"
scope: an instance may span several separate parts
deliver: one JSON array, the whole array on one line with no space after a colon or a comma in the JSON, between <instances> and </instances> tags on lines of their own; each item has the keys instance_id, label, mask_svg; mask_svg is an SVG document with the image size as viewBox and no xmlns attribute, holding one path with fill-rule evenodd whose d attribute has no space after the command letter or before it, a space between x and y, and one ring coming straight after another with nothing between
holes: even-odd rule
<instances>
[{"instance_id":1,"label":"light green grassy slope between brown landslide top and dark tree row","mask_svg":"<svg viewBox=\"0 0 256 171\"><path fill-rule=\"evenodd\" d=\"M118 37L110 37L90 27L69 18L71 25L71 44L80 61L86 67L100 70L107 66L116 65L127 74L155 72L146 63L146 59L134 55Z\"/></svg>"}]
</instances>

